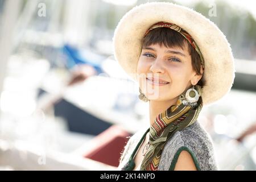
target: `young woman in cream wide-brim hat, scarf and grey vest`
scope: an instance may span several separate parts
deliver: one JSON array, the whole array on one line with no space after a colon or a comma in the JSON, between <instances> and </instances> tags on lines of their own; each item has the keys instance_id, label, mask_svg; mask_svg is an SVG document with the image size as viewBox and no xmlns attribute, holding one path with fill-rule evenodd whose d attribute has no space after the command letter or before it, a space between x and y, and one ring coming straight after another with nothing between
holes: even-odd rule
<instances>
[{"instance_id":1,"label":"young woman in cream wide-brim hat, scarf and grey vest","mask_svg":"<svg viewBox=\"0 0 256 182\"><path fill-rule=\"evenodd\" d=\"M118 169L217 170L197 117L233 84L233 56L222 32L196 11L156 2L123 16L113 41L115 58L150 106L150 125L127 142Z\"/></svg>"}]
</instances>

